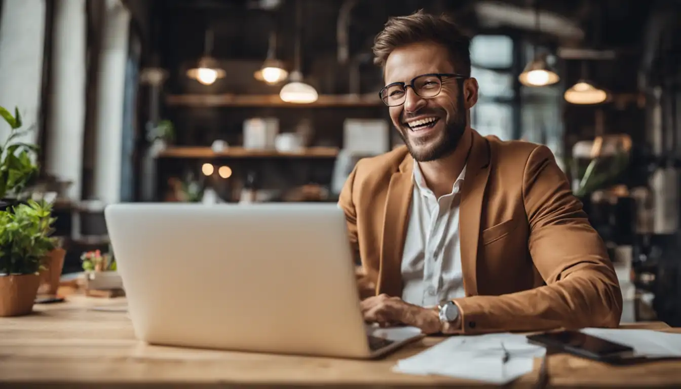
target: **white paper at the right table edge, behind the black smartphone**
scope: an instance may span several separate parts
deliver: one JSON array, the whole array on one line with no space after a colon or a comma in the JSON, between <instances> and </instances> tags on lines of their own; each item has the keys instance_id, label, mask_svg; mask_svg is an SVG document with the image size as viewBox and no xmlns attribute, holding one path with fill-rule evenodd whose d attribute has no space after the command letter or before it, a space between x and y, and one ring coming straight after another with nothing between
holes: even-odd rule
<instances>
[{"instance_id":1,"label":"white paper at the right table edge, behind the black smartphone","mask_svg":"<svg viewBox=\"0 0 681 389\"><path fill-rule=\"evenodd\" d=\"M633 347L636 356L681 357L681 334L654 330L584 328L585 334Z\"/></svg>"}]
</instances>

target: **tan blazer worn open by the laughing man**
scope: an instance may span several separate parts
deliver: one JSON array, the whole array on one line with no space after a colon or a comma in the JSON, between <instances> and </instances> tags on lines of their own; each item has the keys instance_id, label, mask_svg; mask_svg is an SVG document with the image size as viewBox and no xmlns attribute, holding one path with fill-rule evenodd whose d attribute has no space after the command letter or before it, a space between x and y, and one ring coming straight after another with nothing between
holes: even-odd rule
<instances>
[{"instance_id":1,"label":"tan blazer worn open by the laughing man","mask_svg":"<svg viewBox=\"0 0 681 389\"><path fill-rule=\"evenodd\" d=\"M460 203L464 333L616 327L622 294L605 245L551 151L473 137ZM362 159L339 205L375 294L402 296L413 159L402 146Z\"/></svg>"}]
</instances>

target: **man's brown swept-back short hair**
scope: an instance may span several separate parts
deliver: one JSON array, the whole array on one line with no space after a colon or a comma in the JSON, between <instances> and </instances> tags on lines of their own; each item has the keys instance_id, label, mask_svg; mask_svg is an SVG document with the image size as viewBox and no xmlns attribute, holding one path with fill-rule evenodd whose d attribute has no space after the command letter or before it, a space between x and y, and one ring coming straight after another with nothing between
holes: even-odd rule
<instances>
[{"instance_id":1,"label":"man's brown swept-back short hair","mask_svg":"<svg viewBox=\"0 0 681 389\"><path fill-rule=\"evenodd\" d=\"M471 40L446 15L433 16L419 10L409 16L390 18L374 40L374 63L385 66L390 53L419 42L441 44L449 50L456 72L471 75Z\"/></svg>"}]
</instances>

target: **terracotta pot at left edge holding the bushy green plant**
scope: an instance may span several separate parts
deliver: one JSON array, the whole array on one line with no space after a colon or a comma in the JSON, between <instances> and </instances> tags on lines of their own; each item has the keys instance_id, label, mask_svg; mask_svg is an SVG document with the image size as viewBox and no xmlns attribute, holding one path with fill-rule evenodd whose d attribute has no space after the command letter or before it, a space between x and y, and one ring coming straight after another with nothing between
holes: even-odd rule
<instances>
[{"instance_id":1,"label":"terracotta pot at left edge holding the bushy green plant","mask_svg":"<svg viewBox=\"0 0 681 389\"><path fill-rule=\"evenodd\" d=\"M0 317L31 313L39 281L36 274L0 276Z\"/></svg>"}]
</instances>

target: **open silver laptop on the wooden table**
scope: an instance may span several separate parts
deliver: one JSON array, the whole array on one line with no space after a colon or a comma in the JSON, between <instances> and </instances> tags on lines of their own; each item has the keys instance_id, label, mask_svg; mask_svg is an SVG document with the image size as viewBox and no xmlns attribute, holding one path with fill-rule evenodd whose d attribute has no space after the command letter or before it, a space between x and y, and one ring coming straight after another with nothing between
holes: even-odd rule
<instances>
[{"instance_id":1,"label":"open silver laptop on the wooden table","mask_svg":"<svg viewBox=\"0 0 681 389\"><path fill-rule=\"evenodd\" d=\"M378 358L424 336L364 323L336 204L112 204L105 217L142 341Z\"/></svg>"}]
</instances>

